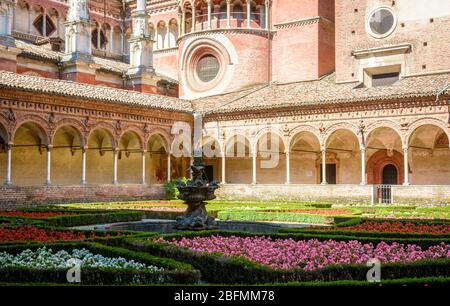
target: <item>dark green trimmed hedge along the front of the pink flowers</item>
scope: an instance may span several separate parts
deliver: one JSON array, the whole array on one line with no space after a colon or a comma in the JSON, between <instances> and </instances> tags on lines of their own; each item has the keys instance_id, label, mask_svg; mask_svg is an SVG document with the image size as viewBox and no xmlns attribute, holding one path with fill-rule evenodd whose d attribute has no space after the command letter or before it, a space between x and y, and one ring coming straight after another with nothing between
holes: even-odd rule
<instances>
[{"instance_id":1,"label":"dark green trimmed hedge along the front of the pink flowers","mask_svg":"<svg viewBox=\"0 0 450 306\"><path fill-rule=\"evenodd\" d=\"M168 236L163 236L169 238ZM294 281L365 280L365 265L329 266L315 271L279 270L241 257L196 252L152 239L131 238L123 246L157 256L165 256L191 264L202 273L202 279L219 284L261 284ZM445 276L450 277L450 259L423 260L410 263L390 263L382 266L383 279Z\"/></svg>"}]
</instances>

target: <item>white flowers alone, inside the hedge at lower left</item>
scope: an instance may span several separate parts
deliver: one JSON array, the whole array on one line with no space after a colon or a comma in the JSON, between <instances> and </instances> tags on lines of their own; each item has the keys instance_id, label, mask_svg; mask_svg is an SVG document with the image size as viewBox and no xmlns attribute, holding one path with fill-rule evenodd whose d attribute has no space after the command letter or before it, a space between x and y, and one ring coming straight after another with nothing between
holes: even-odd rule
<instances>
[{"instance_id":1,"label":"white flowers alone, inside the hedge at lower left","mask_svg":"<svg viewBox=\"0 0 450 306\"><path fill-rule=\"evenodd\" d=\"M81 268L131 269L150 272L163 270L156 266L145 265L134 260L127 260L123 257L110 258L98 254L95 255L84 248L73 249L70 253L65 250L53 252L51 248L45 246L35 251L27 249L16 255L0 252L0 267L3 268L69 269L75 263L79 263Z\"/></svg>"}]
</instances>

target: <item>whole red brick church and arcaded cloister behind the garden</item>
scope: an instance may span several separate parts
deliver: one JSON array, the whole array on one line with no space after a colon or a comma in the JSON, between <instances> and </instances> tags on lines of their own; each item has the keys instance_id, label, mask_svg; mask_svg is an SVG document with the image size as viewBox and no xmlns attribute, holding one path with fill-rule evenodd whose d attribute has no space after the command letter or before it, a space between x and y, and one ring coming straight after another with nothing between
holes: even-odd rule
<instances>
[{"instance_id":1,"label":"whole red brick church and arcaded cloister behind the garden","mask_svg":"<svg viewBox=\"0 0 450 306\"><path fill-rule=\"evenodd\" d=\"M449 46L441 0L0 0L0 206L161 198L194 114L222 198L449 203Z\"/></svg>"}]
</instances>

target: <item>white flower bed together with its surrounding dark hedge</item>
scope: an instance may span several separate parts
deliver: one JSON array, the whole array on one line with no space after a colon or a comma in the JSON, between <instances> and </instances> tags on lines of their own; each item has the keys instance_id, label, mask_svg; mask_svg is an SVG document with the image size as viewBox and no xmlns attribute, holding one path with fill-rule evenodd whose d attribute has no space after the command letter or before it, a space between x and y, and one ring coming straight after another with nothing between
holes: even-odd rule
<instances>
[{"instance_id":1,"label":"white flower bed together with its surrounding dark hedge","mask_svg":"<svg viewBox=\"0 0 450 306\"><path fill-rule=\"evenodd\" d=\"M0 282L66 283L80 264L82 285L197 283L200 272L172 259L93 242L0 246Z\"/></svg>"}]
</instances>

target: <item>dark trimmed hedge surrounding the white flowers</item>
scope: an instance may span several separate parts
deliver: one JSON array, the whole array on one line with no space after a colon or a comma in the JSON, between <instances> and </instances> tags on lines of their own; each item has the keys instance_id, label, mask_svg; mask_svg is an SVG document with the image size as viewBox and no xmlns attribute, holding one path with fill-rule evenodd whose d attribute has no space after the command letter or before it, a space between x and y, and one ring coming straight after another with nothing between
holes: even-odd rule
<instances>
[{"instance_id":1,"label":"dark trimmed hedge surrounding the white flowers","mask_svg":"<svg viewBox=\"0 0 450 306\"><path fill-rule=\"evenodd\" d=\"M136 271L130 269L112 268L84 268L81 271L81 284L110 285L130 284L137 277L142 283L158 283L160 278L164 283L194 284L200 281L200 272L191 265L169 258L161 258L150 254L135 252L123 248L106 246L95 242L69 242L51 244L9 245L0 246L0 252L18 254L26 249L35 250L42 246L54 251L85 248L94 254L106 257L124 257L147 265L155 265L165 270L161 272ZM34 269L24 267L0 267L0 282L41 282L41 283L67 283L67 269Z\"/></svg>"}]
</instances>

